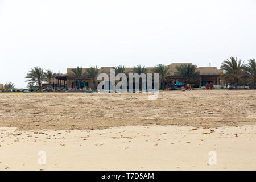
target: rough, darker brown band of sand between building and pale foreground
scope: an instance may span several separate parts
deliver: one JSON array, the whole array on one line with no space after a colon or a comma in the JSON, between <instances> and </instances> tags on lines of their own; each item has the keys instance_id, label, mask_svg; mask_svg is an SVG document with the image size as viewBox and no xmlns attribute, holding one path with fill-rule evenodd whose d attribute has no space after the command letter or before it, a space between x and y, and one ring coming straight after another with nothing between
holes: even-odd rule
<instances>
[{"instance_id":1,"label":"rough, darker brown band of sand between building and pale foreground","mask_svg":"<svg viewBox=\"0 0 256 182\"><path fill-rule=\"evenodd\" d=\"M255 90L148 94L0 93L0 127L104 129L126 125L254 125Z\"/></svg>"}]
</instances>

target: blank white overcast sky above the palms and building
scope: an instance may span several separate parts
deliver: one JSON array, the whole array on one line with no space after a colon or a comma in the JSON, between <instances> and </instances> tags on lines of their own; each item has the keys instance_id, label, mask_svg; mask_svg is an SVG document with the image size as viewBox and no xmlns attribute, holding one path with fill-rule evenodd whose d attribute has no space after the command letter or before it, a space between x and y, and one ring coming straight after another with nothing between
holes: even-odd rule
<instances>
[{"instance_id":1,"label":"blank white overcast sky above the palms and building","mask_svg":"<svg viewBox=\"0 0 256 182\"><path fill-rule=\"evenodd\" d=\"M256 0L0 0L0 83L30 68L256 59Z\"/></svg>"}]
</instances>

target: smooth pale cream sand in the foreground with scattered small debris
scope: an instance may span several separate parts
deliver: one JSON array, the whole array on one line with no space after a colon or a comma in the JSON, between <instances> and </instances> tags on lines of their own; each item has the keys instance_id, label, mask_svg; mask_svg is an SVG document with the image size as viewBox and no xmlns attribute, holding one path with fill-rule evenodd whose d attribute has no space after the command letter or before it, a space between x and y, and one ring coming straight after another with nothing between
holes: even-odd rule
<instances>
[{"instance_id":1,"label":"smooth pale cream sand in the foreground with scattered small debris","mask_svg":"<svg viewBox=\"0 0 256 182\"><path fill-rule=\"evenodd\" d=\"M255 170L256 126L124 126L103 130L1 128L1 170ZM46 164L39 165L39 151ZM209 164L209 152L216 164Z\"/></svg>"}]
</instances>

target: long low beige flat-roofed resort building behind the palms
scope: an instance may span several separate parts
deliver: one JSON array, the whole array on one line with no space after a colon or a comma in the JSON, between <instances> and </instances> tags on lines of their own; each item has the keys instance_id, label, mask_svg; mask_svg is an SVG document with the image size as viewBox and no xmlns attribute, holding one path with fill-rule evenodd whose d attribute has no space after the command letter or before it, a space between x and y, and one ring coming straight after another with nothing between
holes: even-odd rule
<instances>
[{"instance_id":1,"label":"long low beige flat-roofed resort building behind the palms","mask_svg":"<svg viewBox=\"0 0 256 182\"><path fill-rule=\"evenodd\" d=\"M191 64L192 63L172 63L168 65L169 67L169 74L166 77L166 82L165 85L168 86L173 86L176 84L176 82L183 81L184 77L180 76L175 76L175 73L177 72L176 66L181 65L181 64ZM110 69L113 69L114 67L101 67L100 72L101 73L106 73L110 77ZM153 67L148 67L147 68L147 73L154 73L152 71ZM197 81L198 86L205 86L205 84L208 84L210 82L213 82L213 85L216 85L217 87L220 87L221 85L224 84L224 82L221 82L220 75L222 75L223 70L222 69L217 69L217 67L197 67L197 70L200 73L200 80ZM82 68L83 73L86 72L86 69L88 68ZM126 73L133 73L133 68L125 68ZM51 86L53 88L55 87L61 87L61 88L66 88L66 89L71 89L71 88L93 88L93 79L92 77L88 76L82 76L82 77L72 77L72 68L67 68L67 73L65 74L58 74L53 80ZM100 81L96 82L98 84ZM47 84L46 84L47 85ZM127 84L128 85L128 84ZM160 88L160 83L159 83L159 88Z\"/></svg>"}]
</instances>

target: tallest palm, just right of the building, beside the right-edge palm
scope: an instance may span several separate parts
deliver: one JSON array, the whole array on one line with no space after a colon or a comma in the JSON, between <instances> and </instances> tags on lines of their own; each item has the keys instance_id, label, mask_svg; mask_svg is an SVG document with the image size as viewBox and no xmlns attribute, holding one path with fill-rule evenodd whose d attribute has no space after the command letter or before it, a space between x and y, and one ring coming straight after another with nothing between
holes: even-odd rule
<instances>
[{"instance_id":1,"label":"tallest palm, just right of the building, beside the right-edge palm","mask_svg":"<svg viewBox=\"0 0 256 182\"><path fill-rule=\"evenodd\" d=\"M238 82L245 77L246 65L242 63L241 59L230 57L230 60L223 61L220 68L224 70L221 77L225 81L233 81L235 88L237 88Z\"/></svg>"}]
</instances>

